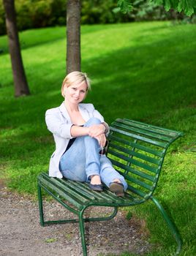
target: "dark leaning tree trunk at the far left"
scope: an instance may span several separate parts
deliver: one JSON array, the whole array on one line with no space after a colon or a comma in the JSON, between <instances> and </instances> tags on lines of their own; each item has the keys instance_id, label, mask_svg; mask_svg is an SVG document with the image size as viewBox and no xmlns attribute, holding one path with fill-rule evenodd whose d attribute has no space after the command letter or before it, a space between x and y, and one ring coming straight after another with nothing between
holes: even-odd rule
<instances>
[{"instance_id":1,"label":"dark leaning tree trunk at the far left","mask_svg":"<svg viewBox=\"0 0 196 256\"><path fill-rule=\"evenodd\" d=\"M15 1L3 0L6 14L6 28L12 62L12 73L15 86L15 97L29 95L29 87L23 68L23 60L20 53L20 43L16 25Z\"/></svg>"}]
</instances>

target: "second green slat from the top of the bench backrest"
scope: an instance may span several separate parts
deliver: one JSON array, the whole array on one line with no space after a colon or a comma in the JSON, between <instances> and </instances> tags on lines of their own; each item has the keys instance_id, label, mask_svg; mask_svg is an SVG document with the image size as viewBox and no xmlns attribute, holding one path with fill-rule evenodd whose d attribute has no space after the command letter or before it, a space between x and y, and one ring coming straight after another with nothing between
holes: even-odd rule
<instances>
[{"instance_id":1,"label":"second green slat from the top of the bench backrest","mask_svg":"<svg viewBox=\"0 0 196 256\"><path fill-rule=\"evenodd\" d=\"M159 134L158 132L155 133L149 129L143 129L143 127L131 127L127 124L118 123L116 121L113 122L113 126L118 127L118 128L127 129L128 131L136 132L136 133L139 133L140 135L145 135L147 137L156 138L159 140L165 140L167 142L170 142L173 140L172 138L169 138L165 135Z\"/></svg>"}]
</instances>

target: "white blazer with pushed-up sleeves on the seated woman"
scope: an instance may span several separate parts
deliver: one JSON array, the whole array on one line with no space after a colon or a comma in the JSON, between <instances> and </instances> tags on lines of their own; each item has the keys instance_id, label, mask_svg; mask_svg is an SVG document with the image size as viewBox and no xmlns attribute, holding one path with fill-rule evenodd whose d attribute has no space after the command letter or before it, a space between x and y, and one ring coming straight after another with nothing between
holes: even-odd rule
<instances>
[{"instance_id":1,"label":"white blazer with pushed-up sleeves on the seated woman","mask_svg":"<svg viewBox=\"0 0 196 256\"><path fill-rule=\"evenodd\" d=\"M85 121L88 121L91 117L97 117L100 121L104 121L102 115L94 109L94 105L80 103L78 107L80 114ZM70 133L72 121L64 106L64 102L58 108L50 108L46 111L45 122L49 131L53 133L53 138L56 143L56 150L50 157L49 176L63 178L59 170L59 162L62 154L64 154L64 151L67 148L69 139L72 138Z\"/></svg>"}]
</instances>

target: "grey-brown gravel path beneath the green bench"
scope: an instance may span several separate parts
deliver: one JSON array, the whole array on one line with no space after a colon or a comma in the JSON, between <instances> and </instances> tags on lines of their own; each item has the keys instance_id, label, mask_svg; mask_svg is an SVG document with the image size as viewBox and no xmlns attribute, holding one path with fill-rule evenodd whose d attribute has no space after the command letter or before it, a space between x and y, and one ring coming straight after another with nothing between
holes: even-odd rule
<instances>
[{"instance_id":1,"label":"grey-brown gravel path beneath the green bench","mask_svg":"<svg viewBox=\"0 0 196 256\"><path fill-rule=\"evenodd\" d=\"M0 188L0 255L1 256L80 256L82 249L78 223L39 225L37 202ZM54 201L44 202L47 219L72 217ZM110 208L89 208L88 217L110 212ZM150 246L140 231L140 223L128 221L118 211L107 222L86 222L88 255L120 255L132 252L142 255Z\"/></svg>"}]
</instances>

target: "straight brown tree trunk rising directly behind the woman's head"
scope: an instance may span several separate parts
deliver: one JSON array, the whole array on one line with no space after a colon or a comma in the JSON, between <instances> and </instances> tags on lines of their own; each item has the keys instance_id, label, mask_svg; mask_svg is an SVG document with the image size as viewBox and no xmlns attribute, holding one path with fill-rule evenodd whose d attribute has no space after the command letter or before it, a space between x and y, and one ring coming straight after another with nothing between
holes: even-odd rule
<instances>
[{"instance_id":1,"label":"straight brown tree trunk rising directly behind the woman's head","mask_svg":"<svg viewBox=\"0 0 196 256\"><path fill-rule=\"evenodd\" d=\"M80 0L67 1L67 74L80 71Z\"/></svg>"}]
</instances>

